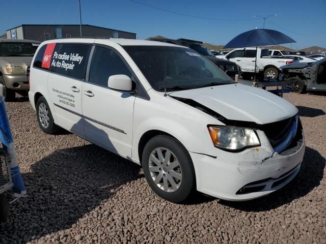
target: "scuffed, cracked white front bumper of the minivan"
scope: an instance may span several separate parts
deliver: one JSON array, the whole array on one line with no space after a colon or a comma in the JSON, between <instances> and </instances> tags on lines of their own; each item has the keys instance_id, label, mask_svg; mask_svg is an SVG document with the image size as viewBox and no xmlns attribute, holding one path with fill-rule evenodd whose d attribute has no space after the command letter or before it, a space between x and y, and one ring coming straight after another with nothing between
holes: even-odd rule
<instances>
[{"instance_id":1,"label":"scuffed, cracked white front bumper of the minivan","mask_svg":"<svg viewBox=\"0 0 326 244\"><path fill-rule=\"evenodd\" d=\"M302 135L296 145L277 153L265 134L258 131L261 146L239 153L216 148L216 157L190 152L197 190L230 201L258 198L284 187L300 170L305 153Z\"/></svg>"}]
</instances>

